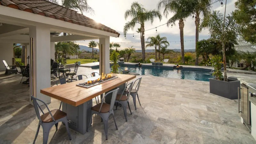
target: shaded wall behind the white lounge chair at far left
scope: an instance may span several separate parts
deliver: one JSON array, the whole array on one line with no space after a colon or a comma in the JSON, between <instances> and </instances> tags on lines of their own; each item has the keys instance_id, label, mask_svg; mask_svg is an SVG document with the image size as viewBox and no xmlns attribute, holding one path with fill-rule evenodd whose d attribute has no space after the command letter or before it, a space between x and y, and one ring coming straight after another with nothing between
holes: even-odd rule
<instances>
[{"instance_id":1,"label":"shaded wall behind the white lounge chair at far left","mask_svg":"<svg viewBox=\"0 0 256 144\"><path fill-rule=\"evenodd\" d=\"M13 58L13 44L12 43L0 43L0 71L4 71L5 67L3 60L6 61L8 65L12 65Z\"/></svg>"}]
</instances>

